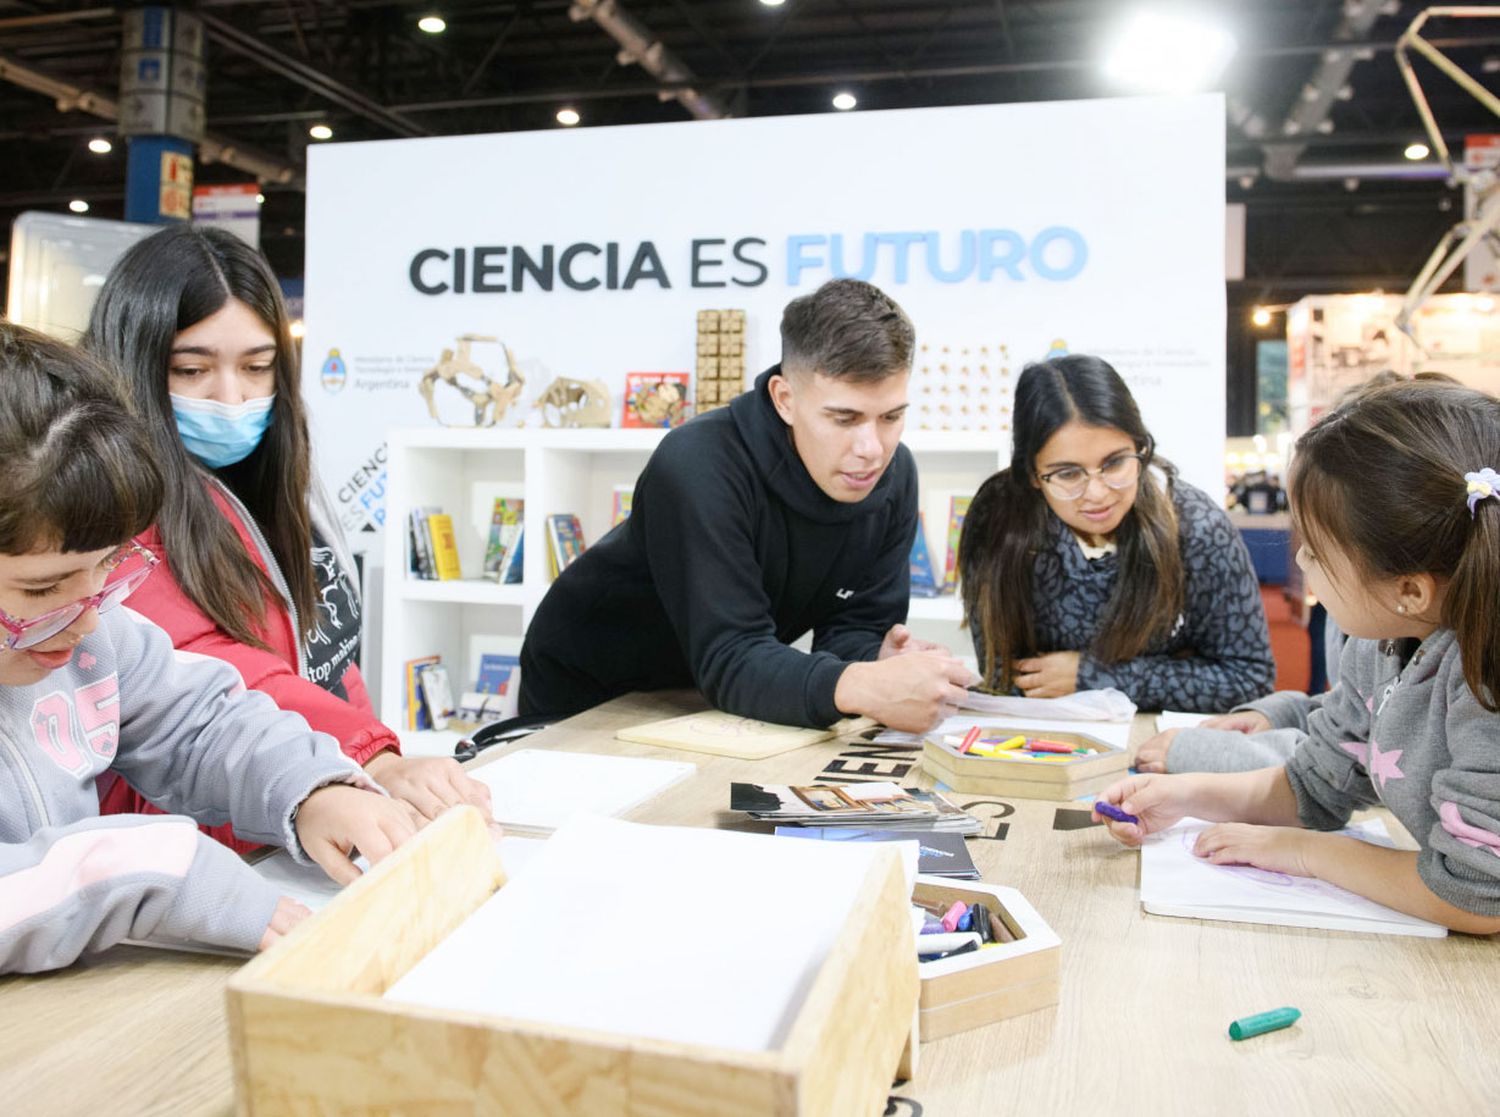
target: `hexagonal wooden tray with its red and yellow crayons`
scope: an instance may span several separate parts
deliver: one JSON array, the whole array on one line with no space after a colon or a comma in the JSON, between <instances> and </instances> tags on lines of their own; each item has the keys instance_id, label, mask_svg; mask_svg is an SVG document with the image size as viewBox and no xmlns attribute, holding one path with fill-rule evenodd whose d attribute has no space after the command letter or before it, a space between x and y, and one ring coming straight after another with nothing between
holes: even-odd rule
<instances>
[{"instance_id":1,"label":"hexagonal wooden tray with its red and yellow crayons","mask_svg":"<svg viewBox=\"0 0 1500 1117\"><path fill-rule=\"evenodd\" d=\"M975 726L963 738L928 738L922 769L956 792L1020 799L1077 799L1104 790L1126 768L1126 751L1088 733L1046 736Z\"/></svg>"}]
</instances>

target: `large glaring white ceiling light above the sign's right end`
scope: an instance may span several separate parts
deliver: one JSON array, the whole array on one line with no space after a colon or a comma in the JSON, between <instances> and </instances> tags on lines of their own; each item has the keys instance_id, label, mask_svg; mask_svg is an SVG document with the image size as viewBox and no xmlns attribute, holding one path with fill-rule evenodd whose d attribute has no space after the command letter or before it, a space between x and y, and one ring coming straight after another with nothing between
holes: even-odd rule
<instances>
[{"instance_id":1,"label":"large glaring white ceiling light above the sign's right end","mask_svg":"<svg viewBox=\"0 0 1500 1117\"><path fill-rule=\"evenodd\" d=\"M1137 12L1120 25L1104 55L1104 73L1144 93L1191 93L1212 87L1234 36L1184 13Z\"/></svg>"}]
</instances>

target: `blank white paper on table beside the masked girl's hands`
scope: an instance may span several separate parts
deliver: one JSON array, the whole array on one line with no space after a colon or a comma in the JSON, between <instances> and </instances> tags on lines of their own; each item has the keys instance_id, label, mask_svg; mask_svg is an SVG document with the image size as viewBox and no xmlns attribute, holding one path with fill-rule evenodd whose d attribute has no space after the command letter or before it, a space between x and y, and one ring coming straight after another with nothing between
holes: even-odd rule
<instances>
[{"instance_id":1,"label":"blank white paper on table beside the masked girl's hands","mask_svg":"<svg viewBox=\"0 0 1500 1117\"><path fill-rule=\"evenodd\" d=\"M501 826L555 831L574 814L624 814L696 771L682 760L520 748L468 774L489 787Z\"/></svg>"}]
</instances>

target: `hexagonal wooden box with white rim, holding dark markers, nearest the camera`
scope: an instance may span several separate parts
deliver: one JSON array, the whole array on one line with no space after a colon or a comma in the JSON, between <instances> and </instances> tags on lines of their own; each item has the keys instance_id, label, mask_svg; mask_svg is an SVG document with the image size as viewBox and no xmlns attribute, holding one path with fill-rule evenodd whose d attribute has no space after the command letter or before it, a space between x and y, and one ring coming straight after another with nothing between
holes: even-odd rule
<instances>
[{"instance_id":1,"label":"hexagonal wooden box with white rim, holding dark markers, nearest the camera","mask_svg":"<svg viewBox=\"0 0 1500 1117\"><path fill-rule=\"evenodd\" d=\"M944 906L956 900L984 904L1016 936L1012 943L916 967L922 982L918 1008L924 1041L1058 1003L1062 940L1014 888L924 876L916 877L912 897Z\"/></svg>"}]
</instances>

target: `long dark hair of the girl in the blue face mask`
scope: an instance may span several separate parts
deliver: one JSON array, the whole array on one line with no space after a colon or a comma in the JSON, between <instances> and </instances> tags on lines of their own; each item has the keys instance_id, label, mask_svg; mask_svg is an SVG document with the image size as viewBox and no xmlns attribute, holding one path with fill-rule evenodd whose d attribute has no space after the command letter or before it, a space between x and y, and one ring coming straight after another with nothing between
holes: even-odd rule
<instances>
[{"instance_id":1,"label":"long dark hair of the girl in the blue face mask","mask_svg":"<svg viewBox=\"0 0 1500 1117\"><path fill-rule=\"evenodd\" d=\"M276 337L276 403L256 451L236 471L249 508L286 577L302 622L314 618L308 420L280 288L266 259L222 229L177 225L132 246L99 291L81 345L130 385L166 478L158 526L172 576L213 622L264 648L266 595L276 589L210 496L210 472L182 444L166 388L172 339L237 298ZM303 634L297 633L300 639Z\"/></svg>"}]
</instances>

